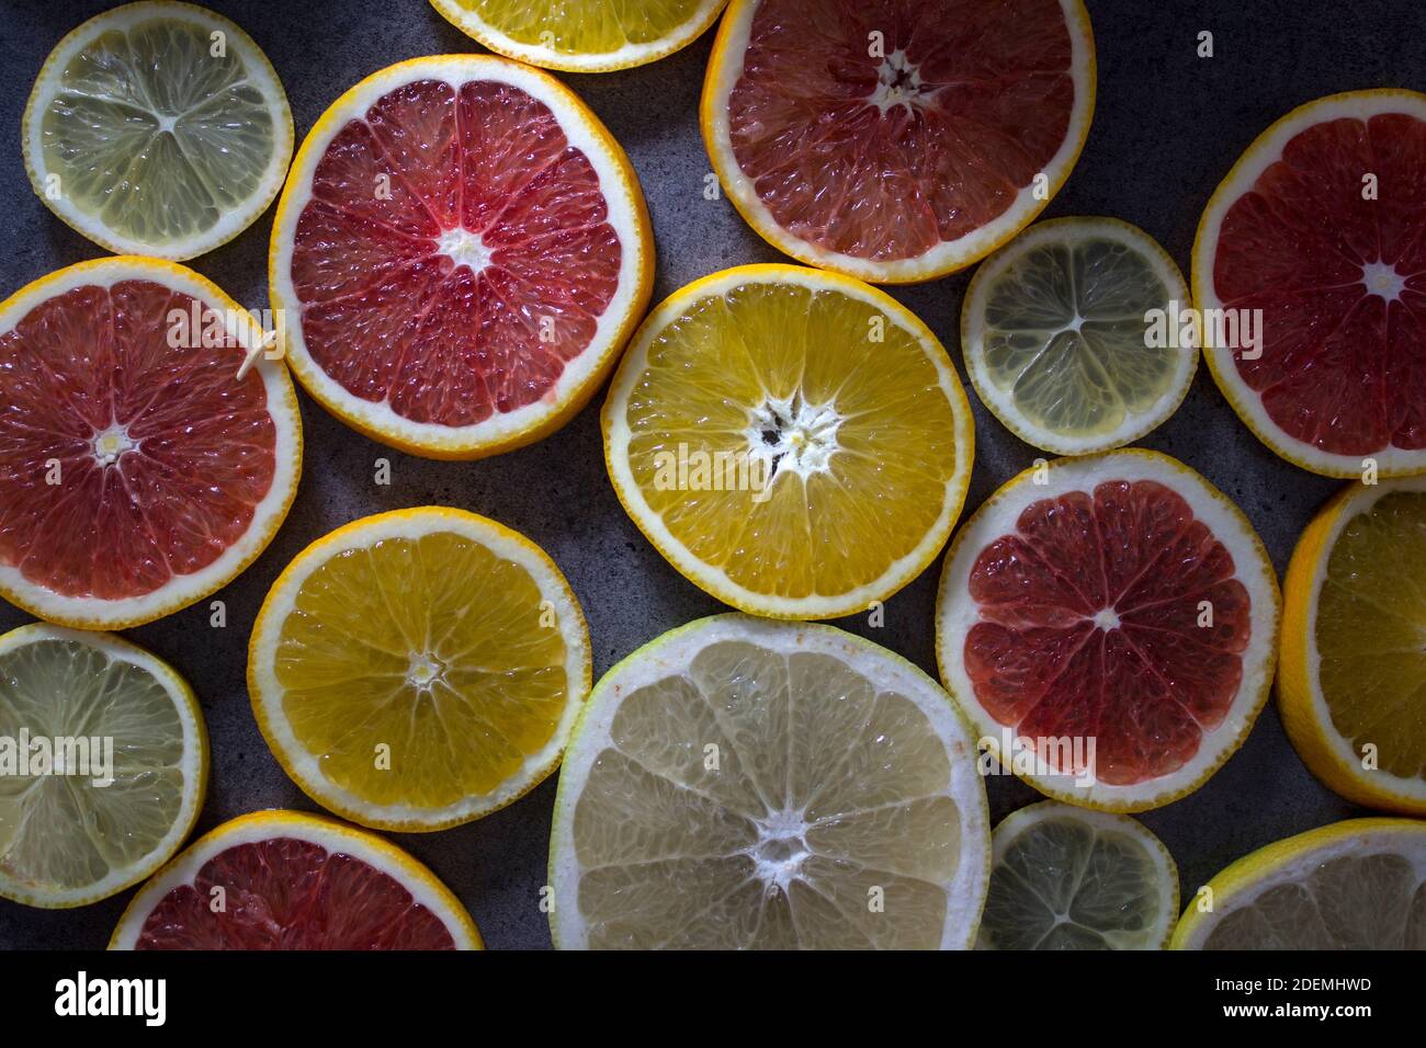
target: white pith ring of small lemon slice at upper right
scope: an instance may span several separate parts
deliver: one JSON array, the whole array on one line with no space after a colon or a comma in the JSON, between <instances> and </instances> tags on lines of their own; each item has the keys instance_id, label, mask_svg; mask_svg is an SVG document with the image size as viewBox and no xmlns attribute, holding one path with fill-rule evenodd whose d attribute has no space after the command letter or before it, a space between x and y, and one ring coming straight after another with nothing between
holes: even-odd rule
<instances>
[{"instance_id":1,"label":"white pith ring of small lemon slice at upper right","mask_svg":"<svg viewBox=\"0 0 1426 1048\"><path fill-rule=\"evenodd\" d=\"M1154 274L1164 282L1172 301L1176 301L1185 309L1192 305L1188 281L1184 279L1184 274L1178 271L1174 260L1168 257L1164 248L1138 227L1114 218L1075 217L1038 222L981 264L971 279L965 302L961 307L961 349L965 355L965 371L981 401L985 402L985 406L991 409L1007 429L1022 441L1055 455L1089 455L1138 441L1178 409L1194 381L1194 372L1198 371L1196 346L1175 349L1178 366L1159 398L1145 411L1128 412L1118 429L1109 433L1078 438L1067 436L1035 425L1025 418L1015 404L1012 391L1001 389L991 379L990 368L985 364L985 307L1000 278L1027 254L1047 244L1072 247L1081 240L1109 240L1124 244L1149 264ZM1162 305L1166 308L1168 302ZM1082 322L1084 318L1077 315L1071 328L1078 331Z\"/></svg>"}]
</instances>

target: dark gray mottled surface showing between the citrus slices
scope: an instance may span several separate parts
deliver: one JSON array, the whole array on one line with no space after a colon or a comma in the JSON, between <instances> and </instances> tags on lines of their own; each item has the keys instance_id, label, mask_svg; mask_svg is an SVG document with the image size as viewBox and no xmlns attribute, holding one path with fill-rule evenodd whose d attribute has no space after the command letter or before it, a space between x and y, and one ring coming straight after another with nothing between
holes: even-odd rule
<instances>
[{"instance_id":1,"label":"dark gray mottled surface showing between the citrus slices","mask_svg":"<svg viewBox=\"0 0 1426 1048\"><path fill-rule=\"evenodd\" d=\"M20 117L40 64L58 38L111 4L6 0L0 21L0 298L51 269L104 254L54 218L31 192ZM267 51L287 87L298 141L347 87L422 54L481 51L425 0L208 0ZM1218 180L1273 120L1299 103L1365 87L1426 88L1422 0L1089 0L1099 61L1089 140L1045 217L1114 215L1154 235L1188 272L1198 217ZM1195 54L1199 30L1215 57ZM714 269L779 261L726 200L706 201L710 170L697 127L710 31L642 68L559 74L605 120L643 181L659 248L655 301ZM231 244L188 265L250 308L267 305L271 210ZM968 272L891 289L945 344L957 337ZM970 384L967 382L970 391ZM597 411L523 451L475 463L409 458L332 421L301 394L304 476L291 516L268 550L218 593L228 626L208 626L207 602L127 636L193 683L212 739L212 777L197 831L265 807L312 808L268 753L248 704L244 666L252 619L282 566L307 543L366 513L446 503L485 513L543 546L589 617L595 674L663 630L724 610L686 582L625 516L605 473ZM1011 436L971 392L977 461L967 513L1038 455ZM1338 486L1279 461L1233 416L1206 368L1184 406L1142 445L1174 455L1216 483L1252 519L1279 573L1313 509ZM372 471L389 458L392 483ZM887 603L886 625L837 625L907 656L933 676L933 606L940 559ZM0 602L0 630L27 616ZM995 821L1038 798L1010 779L987 780ZM409 848L461 897L486 945L549 945L538 908L545 884L555 780L469 826L406 834ZM1243 749L1198 793L1142 816L1172 851L1188 895L1219 868L1269 841L1352 814L1302 766L1269 704ZM100 948L133 893L70 911L0 901L0 947Z\"/></svg>"}]
</instances>

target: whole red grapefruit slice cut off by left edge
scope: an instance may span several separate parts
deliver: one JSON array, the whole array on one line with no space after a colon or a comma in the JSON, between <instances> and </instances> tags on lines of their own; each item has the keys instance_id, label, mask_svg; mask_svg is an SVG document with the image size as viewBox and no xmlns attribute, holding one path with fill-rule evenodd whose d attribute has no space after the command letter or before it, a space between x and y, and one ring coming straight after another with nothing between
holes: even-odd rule
<instances>
[{"instance_id":1,"label":"whole red grapefruit slice cut off by left edge","mask_svg":"<svg viewBox=\"0 0 1426 1048\"><path fill-rule=\"evenodd\" d=\"M151 258L80 262L0 304L0 596L123 629L247 567L302 459L264 338L211 282Z\"/></svg>"}]
</instances>

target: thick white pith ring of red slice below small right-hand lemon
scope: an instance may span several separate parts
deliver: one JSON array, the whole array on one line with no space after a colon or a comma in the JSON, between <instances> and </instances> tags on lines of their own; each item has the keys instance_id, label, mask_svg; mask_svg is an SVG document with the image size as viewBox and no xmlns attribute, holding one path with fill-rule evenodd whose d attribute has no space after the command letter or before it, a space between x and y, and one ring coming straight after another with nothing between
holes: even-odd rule
<instances>
[{"instance_id":1,"label":"thick white pith ring of red slice below small right-hand lemon","mask_svg":"<svg viewBox=\"0 0 1426 1048\"><path fill-rule=\"evenodd\" d=\"M1027 506L1068 492L1092 492L1107 481L1156 481L1176 492L1233 558L1235 576L1251 599L1251 636L1242 659L1242 682L1224 720L1205 730L1198 753L1166 776L1132 786L1111 786L1092 776L1054 774L1037 769L1024 779L1041 793L1071 804L1109 811L1144 811L1166 804L1192 790L1222 764L1242 743L1266 697L1278 644L1278 579L1256 533L1228 499L1188 466L1154 452L1108 452L1082 459L1057 459L1048 463L1047 483L1035 483L1035 471L1010 481L983 505L957 533L947 555L941 589L935 603L935 653L947 690L957 700L980 733L987 750L1002 763L1001 733L1011 730L990 716L975 697L965 672L965 637L980 622L980 605L970 597L970 573L975 559L1002 535L1017 530L1017 520ZM1084 783L1084 779L1091 779Z\"/></svg>"}]
</instances>

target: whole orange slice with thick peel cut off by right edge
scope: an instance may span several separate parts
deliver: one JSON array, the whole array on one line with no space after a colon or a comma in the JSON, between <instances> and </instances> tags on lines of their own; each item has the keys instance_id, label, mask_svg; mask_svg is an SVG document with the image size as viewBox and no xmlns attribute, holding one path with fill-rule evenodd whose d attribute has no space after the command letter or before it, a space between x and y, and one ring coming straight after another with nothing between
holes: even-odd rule
<instances>
[{"instance_id":1,"label":"whole orange slice with thick peel cut off by right edge","mask_svg":"<svg viewBox=\"0 0 1426 1048\"><path fill-rule=\"evenodd\" d=\"M1283 582L1278 706L1343 797L1426 816L1426 478L1350 485L1298 539Z\"/></svg>"}]
</instances>

